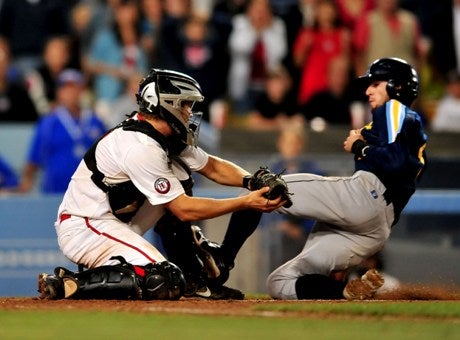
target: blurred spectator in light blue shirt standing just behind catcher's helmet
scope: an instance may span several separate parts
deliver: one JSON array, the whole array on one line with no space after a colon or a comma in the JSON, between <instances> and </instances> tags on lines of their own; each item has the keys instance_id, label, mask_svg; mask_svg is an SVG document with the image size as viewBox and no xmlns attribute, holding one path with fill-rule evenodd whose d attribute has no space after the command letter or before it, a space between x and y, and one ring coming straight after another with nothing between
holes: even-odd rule
<instances>
[{"instance_id":1,"label":"blurred spectator in light blue shirt standing just behind catcher's helmet","mask_svg":"<svg viewBox=\"0 0 460 340\"><path fill-rule=\"evenodd\" d=\"M114 22L93 41L88 71L93 80L96 112L108 116L109 104L124 91L130 75L146 73L147 55L140 44L139 7L136 0L121 0L114 7Z\"/></svg>"}]
</instances>

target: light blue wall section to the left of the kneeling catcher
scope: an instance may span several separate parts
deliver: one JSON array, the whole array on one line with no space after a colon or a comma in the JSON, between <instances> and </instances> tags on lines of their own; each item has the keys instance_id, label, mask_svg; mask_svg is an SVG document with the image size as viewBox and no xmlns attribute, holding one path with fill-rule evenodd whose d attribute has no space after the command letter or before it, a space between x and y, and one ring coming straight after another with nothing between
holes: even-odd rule
<instances>
[{"instance_id":1,"label":"light blue wall section to the left of the kneeling catcher","mask_svg":"<svg viewBox=\"0 0 460 340\"><path fill-rule=\"evenodd\" d=\"M0 198L1 296L35 296L40 272L70 264L59 251L54 230L60 200L39 195Z\"/></svg>"}]
</instances>

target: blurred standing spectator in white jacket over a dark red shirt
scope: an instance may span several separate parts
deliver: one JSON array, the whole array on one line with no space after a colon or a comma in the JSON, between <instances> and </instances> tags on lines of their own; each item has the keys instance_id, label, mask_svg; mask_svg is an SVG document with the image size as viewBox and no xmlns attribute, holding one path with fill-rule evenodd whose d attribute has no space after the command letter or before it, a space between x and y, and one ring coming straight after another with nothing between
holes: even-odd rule
<instances>
[{"instance_id":1,"label":"blurred standing spectator in white jacket over a dark red shirt","mask_svg":"<svg viewBox=\"0 0 460 340\"><path fill-rule=\"evenodd\" d=\"M250 0L245 13L233 17L229 52L229 97L236 113L247 113L269 71L287 54L285 24L268 0Z\"/></svg>"}]
</instances>

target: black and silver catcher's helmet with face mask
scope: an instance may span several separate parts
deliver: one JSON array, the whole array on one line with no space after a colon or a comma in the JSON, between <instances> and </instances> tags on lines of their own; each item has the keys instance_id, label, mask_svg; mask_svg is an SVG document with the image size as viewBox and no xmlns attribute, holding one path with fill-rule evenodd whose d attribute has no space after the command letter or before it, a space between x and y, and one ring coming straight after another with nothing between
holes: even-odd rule
<instances>
[{"instance_id":1,"label":"black and silver catcher's helmet with face mask","mask_svg":"<svg viewBox=\"0 0 460 340\"><path fill-rule=\"evenodd\" d=\"M193 113L188 122L182 120L183 102L202 102L201 87L192 77L171 70L152 68L141 80L136 94L142 112L159 115L179 138L196 145L201 113Z\"/></svg>"}]
</instances>

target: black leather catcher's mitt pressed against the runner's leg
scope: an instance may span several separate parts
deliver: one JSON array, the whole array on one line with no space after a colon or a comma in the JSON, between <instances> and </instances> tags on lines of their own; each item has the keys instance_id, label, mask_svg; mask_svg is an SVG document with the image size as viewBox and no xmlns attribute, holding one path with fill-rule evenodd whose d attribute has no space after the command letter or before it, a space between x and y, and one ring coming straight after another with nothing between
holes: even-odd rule
<instances>
[{"instance_id":1,"label":"black leather catcher's mitt pressed against the runner's leg","mask_svg":"<svg viewBox=\"0 0 460 340\"><path fill-rule=\"evenodd\" d=\"M269 187L270 190L264 195L269 200L273 200L281 196L286 203L283 205L286 208L292 206L291 193L284 179L280 174L275 174L267 167L260 167L252 176L246 176L243 180L244 186L249 190L259 190L263 187Z\"/></svg>"}]
</instances>

